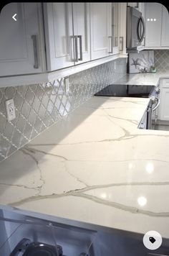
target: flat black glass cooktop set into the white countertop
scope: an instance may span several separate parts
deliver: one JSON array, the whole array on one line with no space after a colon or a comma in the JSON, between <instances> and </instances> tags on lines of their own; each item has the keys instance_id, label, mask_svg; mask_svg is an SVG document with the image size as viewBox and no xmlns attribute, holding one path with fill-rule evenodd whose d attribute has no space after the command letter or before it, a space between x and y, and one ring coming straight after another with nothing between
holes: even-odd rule
<instances>
[{"instance_id":1,"label":"flat black glass cooktop set into the white countertop","mask_svg":"<svg viewBox=\"0 0 169 256\"><path fill-rule=\"evenodd\" d=\"M155 86L132 86L112 84L103 88L95 96L145 97L148 98Z\"/></svg>"}]
</instances>

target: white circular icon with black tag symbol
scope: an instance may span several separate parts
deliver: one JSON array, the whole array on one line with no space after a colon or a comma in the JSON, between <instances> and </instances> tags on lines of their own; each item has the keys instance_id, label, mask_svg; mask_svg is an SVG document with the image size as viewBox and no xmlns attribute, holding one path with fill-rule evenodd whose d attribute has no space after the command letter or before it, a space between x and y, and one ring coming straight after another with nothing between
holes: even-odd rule
<instances>
[{"instance_id":1,"label":"white circular icon with black tag symbol","mask_svg":"<svg viewBox=\"0 0 169 256\"><path fill-rule=\"evenodd\" d=\"M143 244L149 250L156 250L162 244L162 237L157 231L148 231L143 237Z\"/></svg>"}]
</instances>

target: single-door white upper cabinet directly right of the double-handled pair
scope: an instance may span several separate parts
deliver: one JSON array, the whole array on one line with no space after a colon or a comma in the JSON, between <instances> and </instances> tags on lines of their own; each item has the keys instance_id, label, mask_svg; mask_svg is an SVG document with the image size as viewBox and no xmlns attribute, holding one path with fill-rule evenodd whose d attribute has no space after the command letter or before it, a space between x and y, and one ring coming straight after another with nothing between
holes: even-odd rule
<instances>
[{"instance_id":1,"label":"single-door white upper cabinet directly right of the double-handled pair","mask_svg":"<svg viewBox=\"0 0 169 256\"><path fill-rule=\"evenodd\" d=\"M120 52L119 3L91 3L91 59Z\"/></svg>"}]
</instances>

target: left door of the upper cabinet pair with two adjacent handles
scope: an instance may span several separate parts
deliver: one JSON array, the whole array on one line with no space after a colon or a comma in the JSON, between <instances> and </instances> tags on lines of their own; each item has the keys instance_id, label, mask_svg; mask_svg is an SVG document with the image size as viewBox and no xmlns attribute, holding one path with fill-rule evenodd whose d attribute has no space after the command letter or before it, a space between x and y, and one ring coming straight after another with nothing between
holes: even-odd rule
<instances>
[{"instance_id":1,"label":"left door of the upper cabinet pair with two adjacent handles","mask_svg":"<svg viewBox=\"0 0 169 256\"><path fill-rule=\"evenodd\" d=\"M47 70L74 65L72 4L44 3L44 27L47 47Z\"/></svg>"}]
</instances>

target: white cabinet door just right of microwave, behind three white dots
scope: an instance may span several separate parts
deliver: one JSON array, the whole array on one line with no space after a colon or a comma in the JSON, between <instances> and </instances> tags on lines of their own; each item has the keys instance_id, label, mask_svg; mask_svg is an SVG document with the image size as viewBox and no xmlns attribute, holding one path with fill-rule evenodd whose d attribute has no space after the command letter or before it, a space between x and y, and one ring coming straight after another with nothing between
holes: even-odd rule
<instances>
[{"instance_id":1,"label":"white cabinet door just right of microwave, behind three white dots","mask_svg":"<svg viewBox=\"0 0 169 256\"><path fill-rule=\"evenodd\" d=\"M145 3L145 46L159 47L161 43L162 4Z\"/></svg>"}]
</instances>

